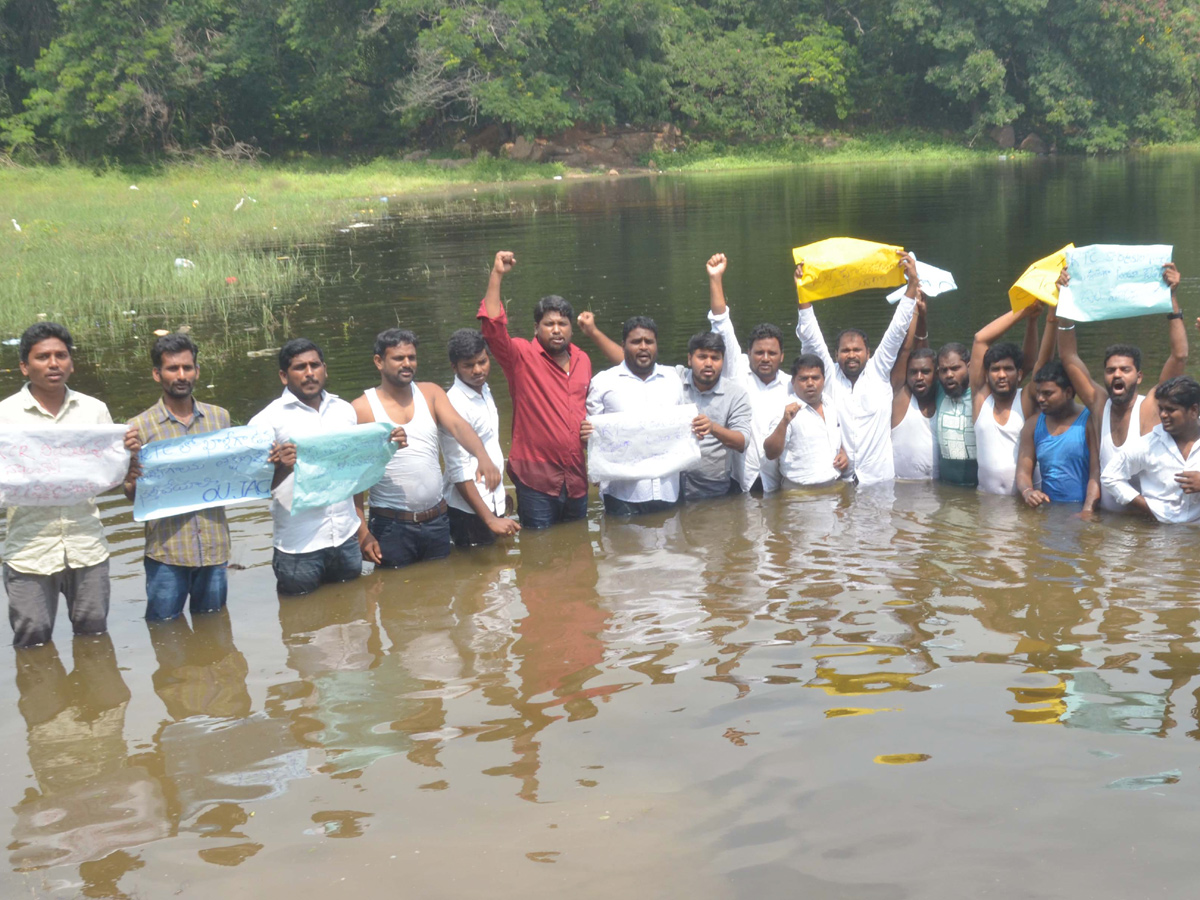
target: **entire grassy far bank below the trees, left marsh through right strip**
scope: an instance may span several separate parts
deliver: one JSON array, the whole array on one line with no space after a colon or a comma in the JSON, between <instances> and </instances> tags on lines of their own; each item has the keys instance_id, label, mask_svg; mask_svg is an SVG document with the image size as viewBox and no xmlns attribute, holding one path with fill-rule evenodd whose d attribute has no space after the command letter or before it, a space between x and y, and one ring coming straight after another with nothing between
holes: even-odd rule
<instances>
[{"instance_id":1,"label":"entire grassy far bank below the trees, left marsh through right strip","mask_svg":"<svg viewBox=\"0 0 1200 900\"><path fill-rule=\"evenodd\" d=\"M619 174L1021 156L919 132L756 145L685 139ZM491 157L0 169L0 337L40 317L82 335L125 334L139 316L182 322L246 305L262 306L265 322L281 294L328 277L319 253L325 235L386 217L520 212L518 200L484 188L556 176L611 175L602 167Z\"/></svg>"}]
</instances>

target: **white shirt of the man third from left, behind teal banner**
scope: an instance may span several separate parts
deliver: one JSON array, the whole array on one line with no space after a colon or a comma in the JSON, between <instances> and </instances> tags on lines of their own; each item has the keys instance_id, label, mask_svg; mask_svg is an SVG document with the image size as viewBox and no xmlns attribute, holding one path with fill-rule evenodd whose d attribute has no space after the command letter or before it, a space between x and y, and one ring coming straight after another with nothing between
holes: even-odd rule
<instances>
[{"instance_id":1,"label":"white shirt of the man third from left, behind teal banner","mask_svg":"<svg viewBox=\"0 0 1200 900\"><path fill-rule=\"evenodd\" d=\"M250 420L251 425L274 428L275 439L281 443L326 431L353 428L358 422L354 407L336 394L324 391L320 395L320 408L313 409L287 388L278 400L272 400L265 409ZM354 511L353 499L344 499L320 509L301 510L293 515L282 503L272 498L271 518L275 522L275 548L282 553L311 553L314 550L337 547L359 530L359 515Z\"/></svg>"}]
</instances>

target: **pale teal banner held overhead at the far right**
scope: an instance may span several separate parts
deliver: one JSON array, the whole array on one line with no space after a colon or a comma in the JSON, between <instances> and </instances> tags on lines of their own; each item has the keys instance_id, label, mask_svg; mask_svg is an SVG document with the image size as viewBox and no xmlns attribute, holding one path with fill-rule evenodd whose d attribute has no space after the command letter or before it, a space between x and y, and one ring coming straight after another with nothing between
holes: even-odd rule
<instances>
[{"instance_id":1,"label":"pale teal banner held overhead at the far right","mask_svg":"<svg viewBox=\"0 0 1200 900\"><path fill-rule=\"evenodd\" d=\"M1104 322L1170 312L1163 266L1174 252L1169 244L1068 248L1070 284L1058 292L1058 314L1072 322Z\"/></svg>"}]
</instances>

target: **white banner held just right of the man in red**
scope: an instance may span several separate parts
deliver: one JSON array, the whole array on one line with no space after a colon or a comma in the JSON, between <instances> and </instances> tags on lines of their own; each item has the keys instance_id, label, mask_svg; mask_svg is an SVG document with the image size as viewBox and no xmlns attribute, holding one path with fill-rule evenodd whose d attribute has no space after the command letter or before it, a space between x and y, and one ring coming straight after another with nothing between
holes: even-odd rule
<instances>
[{"instance_id":1,"label":"white banner held just right of the man in red","mask_svg":"<svg viewBox=\"0 0 1200 900\"><path fill-rule=\"evenodd\" d=\"M667 478L700 462L700 442L691 433L695 403L646 413L589 415L588 478L636 481Z\"/></svg>"}]
</instances>

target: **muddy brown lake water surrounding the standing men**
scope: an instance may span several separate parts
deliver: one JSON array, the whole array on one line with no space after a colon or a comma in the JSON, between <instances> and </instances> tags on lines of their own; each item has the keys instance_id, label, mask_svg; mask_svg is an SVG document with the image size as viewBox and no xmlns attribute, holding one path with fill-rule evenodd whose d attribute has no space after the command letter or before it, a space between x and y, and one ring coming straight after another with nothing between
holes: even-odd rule
<instances>
[{"instance_id":1,"label":"muddy brown lake water surrounding the standing men","mask_svg":"<svg viewBox=\"0 0 1200 900\"><path fill-rule=\"evenodd\" d=\"M718 250L739 330L775 320L796 353L787 251L830 234L954 271L935 343L1070 240L1175 244L1190 320L1198 173L1170 156L556 184L512 192L515 216L335 234L337 277L278 304L347 397L397 322L446 383L444 341L499 248L520 260L514 330L560 293L613 330L650 312L664 361L704 326ZM890 308L818 314L877 336ZM202 346L226 328L188 324ZM228 328L286 336L246 331L250 313ZM1096 365L1139 341L1151 380L1165 355L1157 318L1079 337ZM154 402L149 372L96 366L101 349L144 344L82 347L73 384L120 416ZM227 354L200 396L245 421L272 370ZM1195 529L922 484L632 523L593 498L587 522L281 601L268 511L244 506L228 613L148 628L140 528L102 508L110 635L72 641L60 617L53 646L0 653L5 898L1195 894Z\"/></svg>"}]
</instances>

